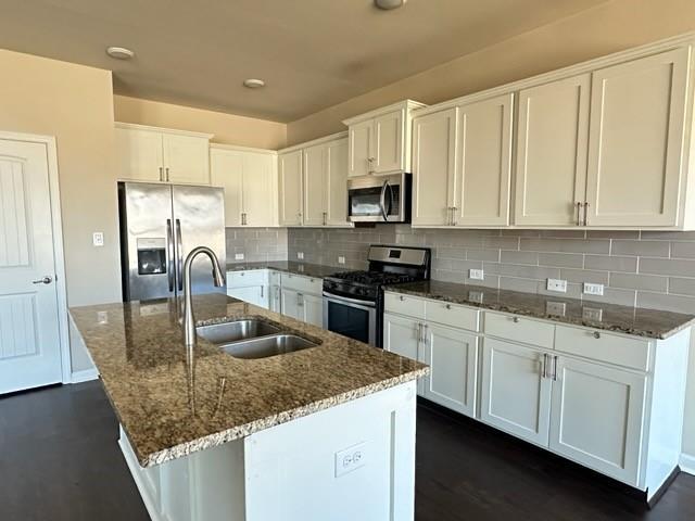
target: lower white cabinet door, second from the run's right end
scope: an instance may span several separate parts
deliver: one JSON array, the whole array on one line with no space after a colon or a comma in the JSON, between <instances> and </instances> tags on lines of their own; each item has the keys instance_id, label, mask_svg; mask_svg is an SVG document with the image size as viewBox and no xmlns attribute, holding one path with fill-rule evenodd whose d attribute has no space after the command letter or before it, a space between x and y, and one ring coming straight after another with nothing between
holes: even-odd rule
<instances>
[{"instance_id":1,"label":"lower white cabinet door, second from the run's right end","mask_svg":"<svg viewBox=\"0 0 695 521\"><path fill-rule=\"evenodd\" d=\"M543 378L543 360L539 351L485 338L480 419L547 447L552 380Z\"/></svg>"}]
</instances>

